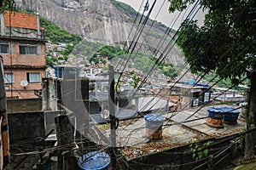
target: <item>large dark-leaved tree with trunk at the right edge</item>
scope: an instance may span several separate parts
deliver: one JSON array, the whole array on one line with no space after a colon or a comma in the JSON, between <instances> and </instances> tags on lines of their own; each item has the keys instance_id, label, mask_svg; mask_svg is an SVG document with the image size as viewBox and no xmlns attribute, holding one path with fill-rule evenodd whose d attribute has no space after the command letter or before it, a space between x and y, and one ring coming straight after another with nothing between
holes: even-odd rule
<instances>
[{"instance_id":1,"label":"large dark-leaved tree with trunk at the right edge","mask_svg":"<svg viewBox=\"0 0 256 170\"><path fill-rule=\"evenodd\" d=\"M169 0L169 10L183 10L195 0ZM247 130L256 127L256 1L201 0L207 10L203 26L196 20L184 20L177 44L194 73L215 71L220 78L230 78L233 84L241 77L250 80ZM254 156L255 131L247 133L245 159Z\"/></svg>"}]
</instances>

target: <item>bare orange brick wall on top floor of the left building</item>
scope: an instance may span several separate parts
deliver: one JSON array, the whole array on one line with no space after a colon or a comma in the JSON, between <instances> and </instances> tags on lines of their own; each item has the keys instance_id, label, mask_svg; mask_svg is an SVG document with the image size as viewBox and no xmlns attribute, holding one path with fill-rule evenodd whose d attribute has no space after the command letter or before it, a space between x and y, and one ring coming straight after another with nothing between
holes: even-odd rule
<instances>
[{"instance_id":1,"label":"bare orange brick wall on top floor of the left building","mask_svg":"<svg viewBox=\"0 0 256 170\"><path fill-rule=\"evenodd\" d=\"M4 17L4 25L10 26L11 19L11 26L13 27L20 27L20 28L29 28L29 29L38 29L37 26L37 15L36 14L22 14L22 13L11 13L9 11L3 14Z\"/></svg>"}]
</instances>

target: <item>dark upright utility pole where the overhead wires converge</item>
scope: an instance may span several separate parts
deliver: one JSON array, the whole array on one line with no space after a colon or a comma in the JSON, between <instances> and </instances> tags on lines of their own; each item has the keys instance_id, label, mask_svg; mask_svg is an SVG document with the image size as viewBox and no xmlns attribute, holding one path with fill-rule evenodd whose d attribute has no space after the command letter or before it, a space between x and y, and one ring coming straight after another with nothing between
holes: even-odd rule
<instances>
[{"instance_id":1,"label":"dark upright utility pole where the overhead wires converge","mask_svg":"<svg viewBox=\"0 0 256 170\"><path fill-rule=\"evenodd\" d=\"M108 101L109 101L109 118L110 118L110 134L111 134L111 162L112 169L116 169L116 128L118 127L118 119L115 117L114 111L114 72L113 65L108 65Z\"/></svg>"}]
</instances>

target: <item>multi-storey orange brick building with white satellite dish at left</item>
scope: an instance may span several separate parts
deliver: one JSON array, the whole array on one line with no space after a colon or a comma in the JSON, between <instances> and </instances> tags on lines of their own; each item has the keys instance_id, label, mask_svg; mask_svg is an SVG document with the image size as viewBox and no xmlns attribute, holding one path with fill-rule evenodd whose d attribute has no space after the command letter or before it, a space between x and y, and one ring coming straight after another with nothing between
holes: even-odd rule
<instances>
[{"instance_id":1,"label":"multi-storey orange brick building with white satellite dish at left","mask_svg":"<svg viewBox=\"0 0 256 170\"><path fill-rule=\"evenodd\" d=\"M0 19L0 55L7 98L37 98L35 92L41 91L46 68L46 41L39 15L7 11Z\"/></svg>"}]
</instances>

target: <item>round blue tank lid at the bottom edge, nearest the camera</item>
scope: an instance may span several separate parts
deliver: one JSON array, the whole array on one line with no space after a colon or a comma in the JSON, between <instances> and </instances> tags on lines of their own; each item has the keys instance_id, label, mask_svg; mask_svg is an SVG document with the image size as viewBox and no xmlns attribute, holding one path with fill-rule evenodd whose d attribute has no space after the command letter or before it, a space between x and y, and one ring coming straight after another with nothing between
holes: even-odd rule
<instances>
[{"instance_id":1,"label":"round blue tank lid at the bottom edge, nearest the camera","mask_svg":"<svg viewBox=\"0 0 256 170\"><path fill-rule=\"evenodd\" d=\"M92 151L79 157L79 167L83 170L108 170L110 161L107 153Z\"/></svg>"}]
</instances>

